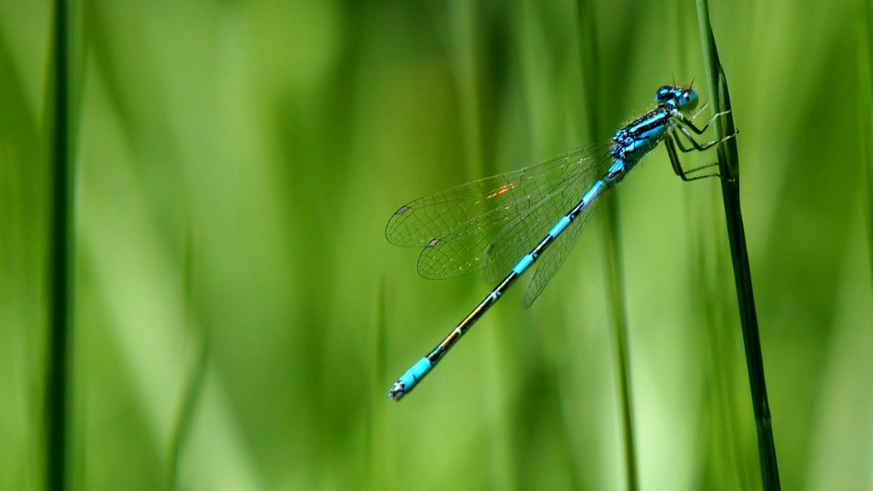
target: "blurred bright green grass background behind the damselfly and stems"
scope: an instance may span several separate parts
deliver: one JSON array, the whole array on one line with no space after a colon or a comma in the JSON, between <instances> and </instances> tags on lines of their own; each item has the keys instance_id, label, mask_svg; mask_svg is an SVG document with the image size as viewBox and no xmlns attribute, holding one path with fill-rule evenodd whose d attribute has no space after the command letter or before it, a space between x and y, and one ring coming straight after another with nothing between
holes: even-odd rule
<instances>
[{"instance_id":1,"label":"blurred bright green grass background behind the damselfly and stems","mask_svg":"<svg viewBox=\"0 0 873 491\"><path fill-rule=\"evenodd\" d=\"M590 143L585 77L607 127L702 81L693 2L592 4L596 74L568 0L78 5L73 486L625 486L597 214L386 398L490 287L420 279L396 207ZM873 487L857 7L711 5L786 489ZM0 4L3 489L44 482L50 21ZM759 486L717 188L658 150L616 194L643 489Z\"/></svg>"}]
</instances>

